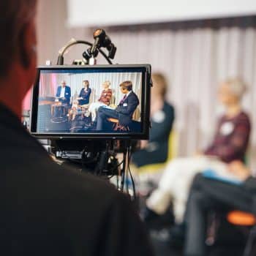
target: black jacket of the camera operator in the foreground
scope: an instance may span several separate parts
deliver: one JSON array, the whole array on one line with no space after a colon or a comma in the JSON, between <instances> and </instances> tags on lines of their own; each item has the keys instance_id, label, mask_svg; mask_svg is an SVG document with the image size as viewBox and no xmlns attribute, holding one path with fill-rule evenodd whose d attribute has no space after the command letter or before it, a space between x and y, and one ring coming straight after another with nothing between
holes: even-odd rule
<instances>
[{"instance_id":1,"label":"black jacket of the camera operator in the foreground","mask_svg":"<svg viewBox=\"0 0 256 256\"><path fill-rule=\"evenodd\" d=\"M61 167L0 105L1 255L153 255L127 197Z\"/></svg>"}]
</instances>

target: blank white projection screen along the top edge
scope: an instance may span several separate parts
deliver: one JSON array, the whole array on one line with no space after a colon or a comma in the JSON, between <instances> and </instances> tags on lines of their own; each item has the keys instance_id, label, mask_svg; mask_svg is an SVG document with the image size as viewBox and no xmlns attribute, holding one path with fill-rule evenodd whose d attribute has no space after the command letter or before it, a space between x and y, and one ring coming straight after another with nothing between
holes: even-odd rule
<instances>
[{"instance_id":1,"label":"blank white projection screen along the top edge","mask_svg":"<svg viewBox=\"0 0 256 256\"><path fill-rule=\"evenodd\" d=\"M256 15L255 0L67 0L67 2L68 23L76 27Z\"/></svg>"}]
</instances>

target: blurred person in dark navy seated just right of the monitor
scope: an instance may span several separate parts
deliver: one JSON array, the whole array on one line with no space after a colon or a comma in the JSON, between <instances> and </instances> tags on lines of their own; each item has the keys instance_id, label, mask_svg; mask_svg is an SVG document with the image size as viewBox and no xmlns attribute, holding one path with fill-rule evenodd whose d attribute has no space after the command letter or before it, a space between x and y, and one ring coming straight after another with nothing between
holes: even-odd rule
<instances>
[{"instance_id":1,"label":"blurred person in dark navy seated just right of the monitor","mask_svg":"<svg viewBox=\"0 0 256 256\"><path fill-rule=\"evenodd\" d=\"M141 149L132 154L137 167L165 162L168 155L168 138L173 127L174 109L165 101L167 82L161 73L152 75L151 129L149 140L141 141Z\"/></svg>"}]
</instances>

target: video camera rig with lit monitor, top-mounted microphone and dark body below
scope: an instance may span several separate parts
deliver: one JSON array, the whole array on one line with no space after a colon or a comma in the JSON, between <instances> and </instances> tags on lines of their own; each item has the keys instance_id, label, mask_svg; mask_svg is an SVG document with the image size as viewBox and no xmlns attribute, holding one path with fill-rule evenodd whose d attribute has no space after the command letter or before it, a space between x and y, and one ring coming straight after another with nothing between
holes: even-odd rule
<instances>
[{"instance_id":1,"label":"video camera rig with lit monitor, top-mounted microphone and dark body below","mask_svg":"<svg viewBox=\"0 0 256 256\"><path fill-rule=\"evenodd\" d=\"M116 47L105 31L95 31L94 39L94 44L76 41L91 46L83 53L84 61L95 59L102 52L101 47L107 48L108 57L113 59ZM131 140L148 139L151 66L63 65L63 55L64 50L58 65L38 67L32 94L31 134L50 140L56 157L79 160L99 175L120 174L116 141L124 153L125 169Z\"/></svg>"}]
</instances>

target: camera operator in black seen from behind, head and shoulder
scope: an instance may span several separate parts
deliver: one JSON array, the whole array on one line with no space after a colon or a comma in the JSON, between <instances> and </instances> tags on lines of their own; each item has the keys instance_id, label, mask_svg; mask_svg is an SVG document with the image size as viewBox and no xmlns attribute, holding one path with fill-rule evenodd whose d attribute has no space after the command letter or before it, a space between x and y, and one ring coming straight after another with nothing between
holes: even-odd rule
<instances>
[{"instance_id":1,"label":"camera operator in black seen from behind, head and shoulder","mask_svg":"<svg viewBox=\"0 0 256 256\"><path fill-rule=\"evenodd\" d=\"M0 1L0 254L152 255L127 197L57 165L20 123L37 73L35 12L35 0Z\"/></svg>"}]
</instances>

